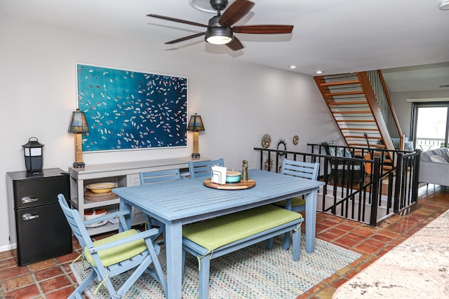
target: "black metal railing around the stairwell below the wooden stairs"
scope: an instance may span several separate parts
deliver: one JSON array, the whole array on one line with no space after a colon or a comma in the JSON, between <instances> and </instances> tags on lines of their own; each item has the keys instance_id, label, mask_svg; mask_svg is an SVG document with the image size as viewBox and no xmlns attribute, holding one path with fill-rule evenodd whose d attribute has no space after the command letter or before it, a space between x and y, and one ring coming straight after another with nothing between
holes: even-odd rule
<instances>
[{"instance_id":1,"label":"black metal railing around the stairwell below the wooden stairs","mask_svg":"<svg viewBox=\"0 0 449 299\"><path fill-rule=\"evenodd\" d=\"M273 161L272 154L276 155L276 168L272 169L278 172L281 165L281 158L292 157L293 160L302 160L304 162L319 162L319 178L323 179L326 185L322 192L321 211L339 214L347 218L361 221L370 225L376 225L377 221L386 218L391 213L398 213L408 208L417 201L417 184L420 167L420 153L417 150L414 153L403 151L389 151L393 160L397 160L396 166L391 169L384 168L384 156L387 150L376 149L380 152L380 157L374 160L363 160L361 158L347 158L336 155L324 155L322 144L308 144L313 149L312 153L300 153L293 151L277 151L268 148L254 148L260 151L260 169L264 169L264 155L267 161ZM335 153L342 149L351 151L352 155L356 151L362 155L367 148L349 148L347 146L333 146ZM314 153L317 151L318 153ZM369 151L374 157L374 151ZM371 163L371 173L369 180L365 179L365 163ZM339 167L340 166L340 167ZM339 169L340 168L340 169ZM356 171L356 169L358 169ZM359 177L356 179L355 175ZM387 180L387 195L382 195L382 181ZM394 182L395 181L395 182ZM329 207L326 201L328 195L328 183L333 185L333 200ZM341 190L341 193L338 192ZM386 214L378 214L377 209L383 204L386 198ZM393 209L391 212L390 209ZM366 209L370 209L369 212ZM368 216L369 219L366 217ZM380 217L380 219L379 219Z\"/></svg>"}]
</instances>

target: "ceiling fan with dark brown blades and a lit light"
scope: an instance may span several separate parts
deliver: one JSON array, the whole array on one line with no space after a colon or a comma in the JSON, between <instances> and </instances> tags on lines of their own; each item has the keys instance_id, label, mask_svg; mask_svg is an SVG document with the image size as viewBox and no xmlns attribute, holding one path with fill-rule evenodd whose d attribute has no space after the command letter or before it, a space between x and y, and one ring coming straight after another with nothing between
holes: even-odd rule
<instances>
[{"instance_id":1,"label":"ceiling fan with dark brown blades and a lit light","mask_svg":"<svg viewBox=\"0 0 449 299\"><path fill-rule=\"evenodd\" d=\"M221 11L226 8L227 4L227 0L210 0L210 6L217 11L217 15L210 18L208 25L170 18L163 15L149 14L147 16L207 28L206 32L200 32L197 34L184 36L180 39L174 39L173 41L167 41L166 44L179 43L180 41L187 41L188 39L194 39L204 35L205 40L208 43L213 43L215 45L226 45L229 49L234 51L243 49L242 43L236 38L236 36L234 36L234 33L289 34L293 30L292 25L250 25L232 27L232 25L239 22L241 18L250 12L251 8L254 6L254 2L248 0L236 0L222 15Z\"/></svg>"}]
</instances>

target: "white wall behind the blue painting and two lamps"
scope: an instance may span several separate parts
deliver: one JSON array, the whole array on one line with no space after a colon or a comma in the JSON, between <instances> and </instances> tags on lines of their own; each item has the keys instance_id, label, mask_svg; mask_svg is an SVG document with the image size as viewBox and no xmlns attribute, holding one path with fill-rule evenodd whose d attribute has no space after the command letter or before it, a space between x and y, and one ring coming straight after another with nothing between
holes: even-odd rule
<instances>
[{"instance_id":1,"label":"white wall behind the blue painting and two lamps","mask_svg":"<svg viewBox=\"0 0 449 299\"><path fill-rule=\"evenodd\" d=\"M199 113L203 157L225 158L229 168L259 167L263 134L275 148L307 151L307 143L338 139L326 105L309 76L252 64L231 57L163 50L162 45L116 40L0 15L0 109L4 141L0 151L0 250L8 244L6 172L25 170L22 144L37 137L45 144L43 167L67 170L74 161L74 137L67 132L76 109L77 62L104 67L188 77L189 115ZM244 52L244 50L243 50ZM243 54L244 55L244 54ZM300 144L293 146L293 136ZM189 141L192 136L189 134ZM189 156L187 148L85 153L86 164Z\"/></svg>"}]
</instances>

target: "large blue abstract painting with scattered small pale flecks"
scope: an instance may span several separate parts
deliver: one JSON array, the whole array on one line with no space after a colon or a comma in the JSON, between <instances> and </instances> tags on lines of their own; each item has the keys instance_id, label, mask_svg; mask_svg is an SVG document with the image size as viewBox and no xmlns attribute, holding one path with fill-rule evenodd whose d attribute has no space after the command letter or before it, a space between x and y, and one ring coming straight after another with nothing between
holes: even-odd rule
<instances>
[{"instance_id":1,"label":"large blue abstract painting with scattered small pale flecks","mask_svg":"<svg viewBox=\"0 0 449 299\"><path fill-rule=\"evenodd\" d=\"M76 64L83 151L187 146L187 78Z\"/></svg>"}]
</instances>

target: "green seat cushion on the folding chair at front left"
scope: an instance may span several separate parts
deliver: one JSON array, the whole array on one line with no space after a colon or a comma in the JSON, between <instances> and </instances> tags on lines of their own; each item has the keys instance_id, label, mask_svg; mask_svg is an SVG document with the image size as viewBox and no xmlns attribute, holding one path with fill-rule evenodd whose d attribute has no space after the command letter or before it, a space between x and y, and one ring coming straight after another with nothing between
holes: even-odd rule
<instances>
[{"instance_id":1,"label":"green seat cushion on the folding chair at front left","mask_svg":"<svg viewBox=\"0 0 449 299\"><path fill-rule=\"evenodd\" d=\"M126 230L125 232L119 232L118 234L112 235L111 237L93 242L93 246L104 245L138 233L139 232L137 230ZM134 242L113 247L111 249L98 251L98 256L100 256L102 264L105 267L108 267L110 265L120 263L123 260L127 260L128 258L132 258L133 256L138 255L145 250L147 250L147 244L145 244L145 241L143 239L140 239ZM91 265L96 267L95 261L93 260L92 255L87 247L84 247L84 256L86 257L86 260L91 263Z\"/></svg>"}]
</instances>

